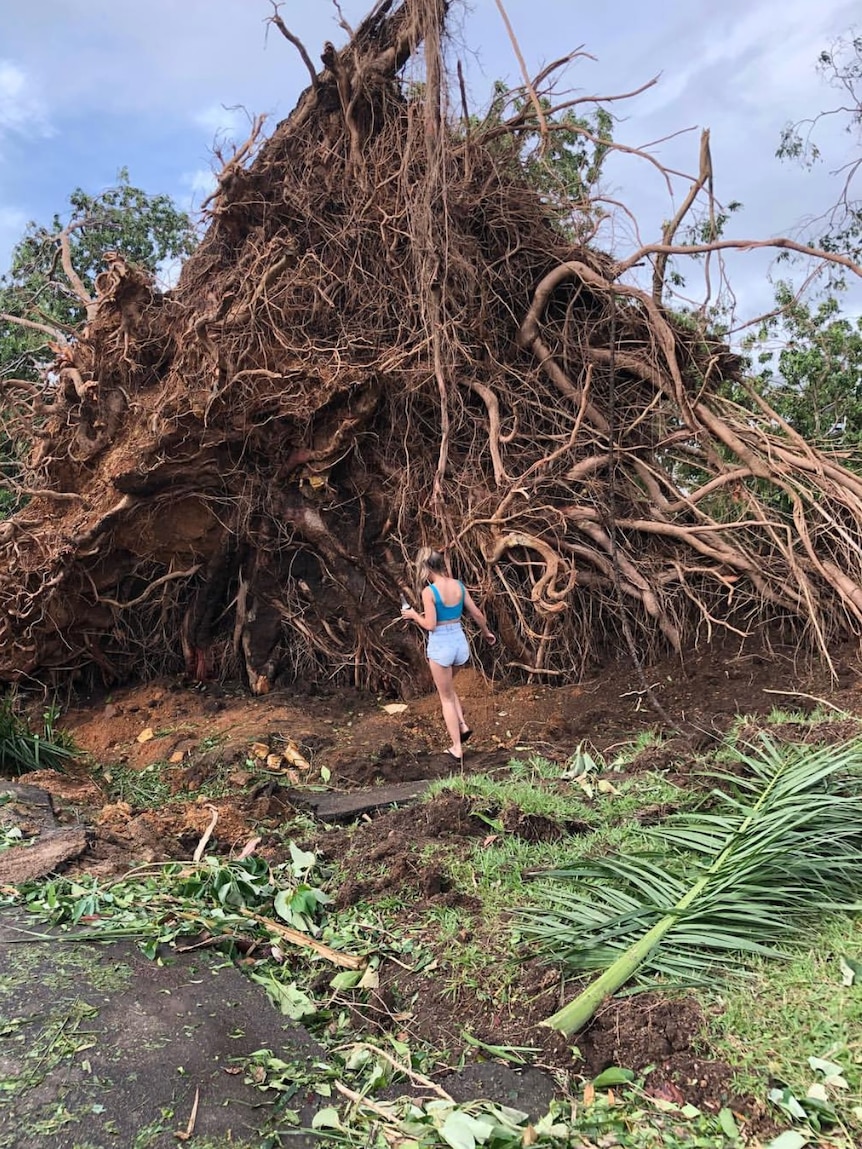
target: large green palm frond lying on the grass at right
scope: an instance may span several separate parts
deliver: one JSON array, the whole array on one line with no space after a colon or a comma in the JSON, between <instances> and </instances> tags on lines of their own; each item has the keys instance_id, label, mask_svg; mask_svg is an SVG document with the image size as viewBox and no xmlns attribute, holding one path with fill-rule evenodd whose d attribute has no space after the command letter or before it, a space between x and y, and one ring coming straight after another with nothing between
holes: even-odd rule
<instances>
[{"instance_id":1,"label":"large green palm frond lying on the grass at right","mask_svg":"<svg viewBox=\"0 0 862 1149\"><path fill-rule=\"evenodd\" d=\"M747 774L715 776L708 811L647 834L661 853L591 858L549 877L553 908L521 915L524 934L569 969L602 970L544 1024L580 1030L601 1002L652 971L688 984L717 963L783 956L826 910L859 909L862 742L811 750L765 735Z\"/></svg>"}]
</instances>

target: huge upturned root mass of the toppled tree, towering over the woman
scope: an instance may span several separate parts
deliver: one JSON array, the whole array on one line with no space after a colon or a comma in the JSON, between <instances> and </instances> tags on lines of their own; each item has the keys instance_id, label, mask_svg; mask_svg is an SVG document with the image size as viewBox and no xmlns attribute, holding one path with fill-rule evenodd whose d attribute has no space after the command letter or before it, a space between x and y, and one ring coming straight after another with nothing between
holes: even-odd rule
<instances>
[{"instance_id":1,"label":"huge upturned root mass of the toppled tree, towering over the woman","mask_svg":"<svg viewBox=\"0 0 862 1149\"><path fill-rule=\"evenodd\" d=\"M422 651L388 624L428 541L501 674L862 631L862 478L662 300L669 256L733 241L677 244L680 209L614 260L564 226L522 142L578 100L554 105L552 68L508 118L453 113L447 8L382 0L320 72L276 9L310 85L224 164L176 290L110 253L43 384L6 380L36 446L0 524L3 679L185 658L256 692L399 688Z\"/></svg>"}]
</instances>

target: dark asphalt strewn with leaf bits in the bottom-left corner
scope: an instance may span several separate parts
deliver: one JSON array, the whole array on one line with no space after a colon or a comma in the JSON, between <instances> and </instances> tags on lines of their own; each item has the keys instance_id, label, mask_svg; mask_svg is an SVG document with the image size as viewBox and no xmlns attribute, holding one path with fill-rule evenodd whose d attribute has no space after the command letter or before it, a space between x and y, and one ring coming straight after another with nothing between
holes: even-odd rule
<instances>
[{"instance_id":1,"label":"dark asphalt strewn with leaf bits in the bottom-left corner","mask_svg":"<svg viewBox=\"0 0 862 1149\"><path fill-rule=\"evenodd\" d=\"M51 1134L63 1146L168 1149L195 1098L195 1140L257 1144L267 1118L245 1059L262 1048L324 1056L221 957L172 951L162 964L133 942L26 944L32 927L0 916L0 1149L39 1149ZM314 1106L298 1102L308 1121Z\"/></svg>"}]
</instances>

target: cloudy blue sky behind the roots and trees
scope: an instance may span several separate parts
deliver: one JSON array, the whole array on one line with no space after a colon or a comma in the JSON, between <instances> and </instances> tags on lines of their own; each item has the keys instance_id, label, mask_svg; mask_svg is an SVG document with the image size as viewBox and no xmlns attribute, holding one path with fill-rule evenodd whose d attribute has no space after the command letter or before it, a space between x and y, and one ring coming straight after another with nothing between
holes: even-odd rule
<instances>
[{"instance_id":1,"label":"cloudy blue sky behind the roots and trees","mask_svg":"<svg viewBox=\"0 0 862 1149\"><path fill-rule=\"evenodd\" d=\"M528 69L583 48L563 87L614 95L615 139L696 173L700 130L710 129L715 191L741 201L732 238L800 238L836 199L837 168L859 141L836 119L817 141L813 170L780 161L783 126L839 102L817 56L859 17L857 0L505 0ZM356 24L371 0L341 0ZM265 17L270 0L0 0L0 272L28 221L48 223L72 188L97 194L128 168L131 182L168 193L194 211L213 182L217 141L247 136L290 113L308 83L293 47ZM325 40L340 45L332 0L285 0L280 14L317 62ZM449 59L461 59L469 97L486 106L495 79L518 84L519 68L495 0L456 3ZM672 198L646 161L616 154L603 190L634 214L641 237L659 238L685 196ZM636 242L621 223L606 239L615 255ZM762 253L733 256L740 311L767 310L770 275ZM785 272L780 272L785 273ZM691 284L692 293L696 285Z\"/></svg>"}]
</instances>

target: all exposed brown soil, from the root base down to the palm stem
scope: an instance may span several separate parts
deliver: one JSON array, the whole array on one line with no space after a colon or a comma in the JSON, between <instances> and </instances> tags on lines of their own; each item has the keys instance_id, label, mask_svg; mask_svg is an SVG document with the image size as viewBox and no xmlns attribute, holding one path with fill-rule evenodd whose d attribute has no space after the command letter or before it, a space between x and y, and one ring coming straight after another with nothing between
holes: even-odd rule
<instances>
[{"instance_id":1,"label":"all exposed brown soil, from the root base down to the palm stem","mask_svg":"<svg viewBox=\"0 0 862 1149\"><path fill-rule=\"evenodd\" d=\"M741 711L756 715L776 705L814 704L793 691L860 715L857 669L855 657L848 655L840 666L840 681L833 686L822 669L796 671L790 660L719 660L710 654L690 660L685 669L678 664L654 669L649 681L656 684L662 704L672 715L715 731L726 728ZM502 771L510 758L529 758L533 753L565 762L580 741L605 751L640 730L659 726L637 676L622 665L560 688L497 689L468 671L459 687L474 728L467 771ZM275 692L254 699L178 681L117 691L78 705L66 719L98 768L91 762L71 774L40 771L26 781L54 795L61 822L83 820L94 827L95 846L84 859L71 863L72 872L116 872L141 859L188 858L217 811L208 849L228 853L260 838L261 853L278 859L293 838L306 848L314 847L324 861L338 861L340 872L353 874L333 890L337 905L397 892L403 903L405 931L413 931L432 951L439 941L428 927L416 934L416 911L454 908L463 916L459 941L494 953L507 940L483 934L482 903L469 890L455 888L449 877L453 859L464 857L477 841L494 839L495 831L479 816L486 811L445 793L418 805L365 817L355 826L313 830L308 815L292 801L298 786L322 786L328 777L329 787L348 791L452 772L452 763L439 753L446 738L436 696L410 701L395 715L387 714L384 704L386 700L360 693L300 697ZM153 737L139 741L146 730ZM854 718L813 727L810 737L831 740L857 731ZM298 745L307 768L282 763L272 769L256 756L261 748L280 754L288 740ZM694 757L690 742L669 738L642 751L628 769L662 769L682 780ZM141 772L141 779L161 777L172 796L154 809L136 805L133 794L130 801L117 800L111 795L116 779L111 782L110 778L121 770L132 780L134 772ZM215 799L201 794L215 779L226 785L228 796L223 791ZM646 807L640 819L655 822L667 812L661 805ZM579 828L526 817L517 808L495 811L494 820L503 832L530 841L554 841ZM526 961L517 984L502 995L507 1004L501 1005L493 994L483 992L485 987L459 985L455 971L446 969L441 953L439 957L437 972L414 972L407 962L403 966L385 964L364 1024L370 1017L370 1024L380 1030L451 1051L463 1049L467 1030L490 1044L536 1048L539 1064L586 1074L610 1064L634 1070L652 1065L648 1088L659 1096L677 1100L678 1094L707 1108L732 1104L759 1115L753 1101L746 1104L733 1098L731 1069L705 1051L702 1018L691 1000L640 995L610 1003L577 1038L582 1058L577 1061L569 1042L538 1026L560 1003L556 970Z\"/></svg>"}]
</instances>

